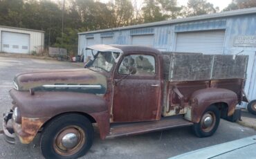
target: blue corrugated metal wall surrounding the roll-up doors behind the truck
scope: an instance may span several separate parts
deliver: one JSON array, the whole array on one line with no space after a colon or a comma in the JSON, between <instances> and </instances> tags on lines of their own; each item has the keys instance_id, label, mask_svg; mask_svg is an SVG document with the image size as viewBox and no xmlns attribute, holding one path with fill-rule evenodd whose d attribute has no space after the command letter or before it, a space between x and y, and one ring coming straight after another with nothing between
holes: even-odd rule
<instances>
[{"instance_id":1,"label":"blue corrugated metal wall surrounding the roll-up doors behind the truck","mask_svg":"<svg viewBox=\"0 0 256 159\"><path fill-rule=\"evenodd\" d=\"M113 37L113 44L132 44L133 36L154 35L153 47L158 50L175 51L177 44L177 36L184 32L198 32L198 31L212 31L222 30L223 46L220 50L215 50L218 54L236 55L240 53L249 55L249 63L247 69L246 93L248 93L250 100L256 99L256 46L235 46L234 40L239 35L254 35L256 36L256 16L254 15L239 15L235 17L225 17L210 20L183 22L181 24L166 24L164 26L151 26L147 28L135 28L131 30L118 30L107 32L105 34ZM95 44L101 44L103 32L94 33ZM206 40L205 36L205 40ZM80 54L82 49L86 47L86 38L80 35ZM84 41L82 41L84 39ZM209 43L211 41L208 41ZM213 41L212 41L213 42ZM207 44L205 44L207 45ZM210 52L210 51L209 51ZM254 64L254 65L253 65Z\"/></svg>"}]
</instances>

